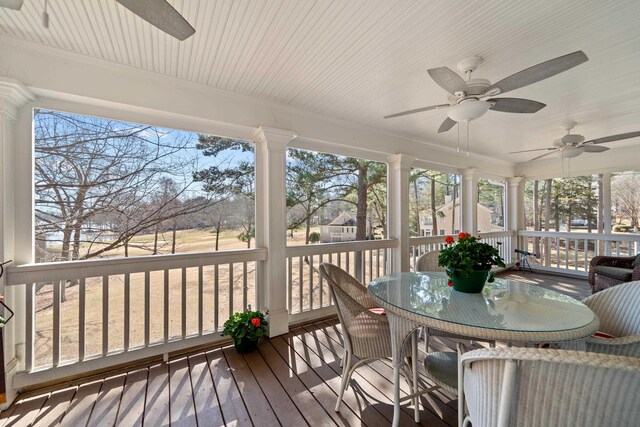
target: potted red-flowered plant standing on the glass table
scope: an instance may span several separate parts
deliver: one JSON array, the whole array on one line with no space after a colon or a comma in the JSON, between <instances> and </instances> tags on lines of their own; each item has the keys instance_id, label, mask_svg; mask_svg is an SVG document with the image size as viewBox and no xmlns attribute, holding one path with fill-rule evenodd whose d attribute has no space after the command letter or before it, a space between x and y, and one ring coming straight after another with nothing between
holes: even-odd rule
<instances>
[{"instance_id":1,"label":"potted red-flowered plant standing on the glass table","mask_svg":"<svg viewBox=\"0 0 640 427\"><path fill-rule=\"evenodd\" d=\"M444 239L446 247L440 251L438 265L445 267L449 284L460 292L482 292L484 284L493 282L491 267L505 267L498 248L481 241L480 237L460 233ZM498 242L498 245L501 243Z\"/></svg>"}]
</instances>

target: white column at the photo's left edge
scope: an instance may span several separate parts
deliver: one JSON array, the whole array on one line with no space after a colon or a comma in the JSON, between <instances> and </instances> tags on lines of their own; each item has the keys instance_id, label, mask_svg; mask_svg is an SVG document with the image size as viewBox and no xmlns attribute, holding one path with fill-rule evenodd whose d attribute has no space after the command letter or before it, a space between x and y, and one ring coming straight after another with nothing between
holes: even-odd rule
<instances>
[{"instance_id":1,"label":"white column at the photo's left edge","mask_svg":"<svg viewBox=\"0 0 640 427\"><path fill-rule=\"evenodd\" d=\"M31 92L20 82L0 77L0 262L11 259L15 262L21 261L16 259L16 245L22 242L15 235L14 206L16 192L27 191L29 186L17 188L16 169L24 165L17 165L16 146L18 143L29 143L29 141L17 141L15 128L18 108L33 99ZM5 296L5 303L16 314L3 330L7 404L1 405L1 409L15 398L16 390L12 387L13 377L20 366L21 359L24 362L25 339L24 289L5 287L5 283L6 275L0 278L0 294Z\"/></svg>"}]
</instances>

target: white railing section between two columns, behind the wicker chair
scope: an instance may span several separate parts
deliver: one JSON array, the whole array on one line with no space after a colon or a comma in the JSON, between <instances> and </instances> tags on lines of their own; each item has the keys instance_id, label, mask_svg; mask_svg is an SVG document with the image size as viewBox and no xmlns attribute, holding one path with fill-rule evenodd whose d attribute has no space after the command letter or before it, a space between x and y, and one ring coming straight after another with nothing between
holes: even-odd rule
<instances>
[{"instance_id":1,"label":"white railing section between two columns, behind the wicker chair","mask_svg":"<svg viewBox=\"0 0 640 427\"><path fill-rule=\"evenodd\" d=\"M396 240L329 243L287 247L289 319L301 322L335 313L329 287L318 270L330 262L364 283L386 274L389 249Z\"/></svg>"}]
</instances>

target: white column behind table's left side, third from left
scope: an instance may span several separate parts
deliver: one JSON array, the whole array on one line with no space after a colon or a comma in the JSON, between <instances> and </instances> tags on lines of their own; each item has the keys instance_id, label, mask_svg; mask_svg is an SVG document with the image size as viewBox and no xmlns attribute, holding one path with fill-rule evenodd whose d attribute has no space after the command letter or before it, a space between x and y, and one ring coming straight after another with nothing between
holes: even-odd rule
<instances>
[{"instance_id":1,"label":"white column behind table's left side, third from left","mask_svg":"<svg viewBox=\"0 0 640 427\"><path fill-rule=\"evenodd\" d=\"M414 161L414 157L406 154L396 154L389 158L387 182L389 238L397 239L399 242L391 256L389 271L394 273L409 271L410 268L409 173Z\"/></svg>"}]
</instances>

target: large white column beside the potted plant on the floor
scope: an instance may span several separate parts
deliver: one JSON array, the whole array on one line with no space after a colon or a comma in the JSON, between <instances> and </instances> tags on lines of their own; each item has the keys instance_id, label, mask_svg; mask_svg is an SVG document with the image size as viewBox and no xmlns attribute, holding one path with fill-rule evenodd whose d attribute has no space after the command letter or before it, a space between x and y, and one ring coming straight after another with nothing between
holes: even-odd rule
<instances>
[{"instance_id":1,"label":"large white column beside the potted plant on the floor","mask_svg":"<svg viewBox=\"0 0 640 427\"><path fill-rule=\"evenodd\" d=\"M289 332L285 168L294 132L260 127L256 142L256 247L269 251L257 269L257 310L269 309L269 336Z\"/></svg>"}]
</instances>

